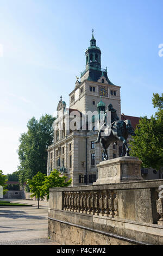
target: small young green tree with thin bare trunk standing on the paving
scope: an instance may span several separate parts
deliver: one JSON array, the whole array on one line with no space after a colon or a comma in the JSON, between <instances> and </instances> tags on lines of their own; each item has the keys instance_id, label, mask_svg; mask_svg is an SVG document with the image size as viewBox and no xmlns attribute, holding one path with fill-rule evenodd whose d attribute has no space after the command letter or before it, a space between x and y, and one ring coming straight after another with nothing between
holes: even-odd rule
<instances>
[{"instance_id":1,"label":"small young green tree with thin bare trunk standing on the paving","mask_svg":"<svg viewBox=\"0 0 163 256\"><path fill-rule=\"evenodd\" d=\"M33 179L28 179L27 185L30 188L30 192L32 192L30 197L36 197L38 200L38 209L39 209L39 201L40 198L44 198L44 190L43 190L43 182L45 181L45 174L38 172Z\"/></svg>"}]
</instances>

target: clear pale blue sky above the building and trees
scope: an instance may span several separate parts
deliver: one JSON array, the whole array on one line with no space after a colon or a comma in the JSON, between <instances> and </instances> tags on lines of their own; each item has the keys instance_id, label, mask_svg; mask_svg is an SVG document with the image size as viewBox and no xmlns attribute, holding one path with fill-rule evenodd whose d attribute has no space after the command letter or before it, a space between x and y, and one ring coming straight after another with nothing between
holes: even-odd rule
<instances>
[{"instance_id":1,"label":"clear pale blue sky above the building and trees","mask_svg":"<svg viewBox=\"0 0 163 256\"><path fill-rule=\"evenodd\" d=\"M137 117L155 113L162 93L162 0L0 0L0 169L18 165L18 137L27 121L56 111L85 70L91 29L102 68L121 86L121 110ZM0 52L1 53L1 52Z\"/></svg>"}]
</instances>

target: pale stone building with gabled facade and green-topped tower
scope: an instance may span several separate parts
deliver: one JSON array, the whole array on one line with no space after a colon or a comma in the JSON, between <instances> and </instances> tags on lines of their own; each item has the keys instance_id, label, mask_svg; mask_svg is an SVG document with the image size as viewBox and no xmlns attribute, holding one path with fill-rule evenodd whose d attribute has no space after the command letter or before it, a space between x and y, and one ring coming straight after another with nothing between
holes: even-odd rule
<instances>
[{"instance_id":1,"label":"pale stone building with gabled facade and green-topped tower","mask_svg":"<svg viewBox=\"0 0 163 256\"><path fill-rule=\"evenodd\" d=\"M95 60L96 54L101 54L98 47L95 47L96 40L93 39L93 47L89 47L86 54L93 54ZM96 50L94 54L93 49ZM87 56L87 55L86 55ZM89 56L91 59L91 55ZM115 86L110 82L107 76L107 70L101 69L101 58L98 57L98 63L87 63L86 70L81 74L80 82L76 81L76 86L70 93L70 107L66 108L66 103L62 99L57 107L57 119L53 123L54 142L48 147L47 175L53 169L65 167L64 173L68 179L72 178L72 186L92 184L98 178L96 164L103 160L103 150L101 145L92 144L96 141L98 127L97 122L93 123L91 117L85 121L82 126L77 127L75 131L70 128L72 112L77 116L77 123L81 115L86 118L85 113L95 112L97 121L97 103L103 101L105 108L111 103L117 110L117 115L121 119L121 96L120 86ZM94 66L93 66L94 65ZM91 78L92 77L92 78ZM87 121L91 127L87 127ZM109 121L109 120L108 120ZM85 126L85 127L84 127ZM109 159L119 156L118 145L110 145L108 149Z\"/></svg>"}]
</instances>

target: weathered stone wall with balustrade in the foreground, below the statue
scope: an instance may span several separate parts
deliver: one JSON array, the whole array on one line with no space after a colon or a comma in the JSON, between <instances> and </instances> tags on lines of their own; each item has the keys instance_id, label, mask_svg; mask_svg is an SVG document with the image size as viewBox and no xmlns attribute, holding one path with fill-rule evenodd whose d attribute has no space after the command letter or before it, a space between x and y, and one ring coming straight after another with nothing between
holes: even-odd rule
<instances>
[{"instance_id":1,"label":"weathered stone wall with balustrade in the foreground, below the statue","mask_svg":"<svg viewBox=\"0 0 163 256\"><path fill-rule=\"evenodd\" d=\"M163 245L163 180L51 188L48 235L61 245Z\"/></svg>"}]
</instances>

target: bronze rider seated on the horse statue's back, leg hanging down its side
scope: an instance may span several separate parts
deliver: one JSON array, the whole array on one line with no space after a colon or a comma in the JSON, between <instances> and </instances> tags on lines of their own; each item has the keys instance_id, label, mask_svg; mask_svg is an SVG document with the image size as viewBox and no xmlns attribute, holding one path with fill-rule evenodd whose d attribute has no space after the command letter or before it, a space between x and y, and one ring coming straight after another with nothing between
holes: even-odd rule
<instances>
[{"instance_id":1,"label":"bronze rider seated on the horse statue's back, leg hanging down its side","mask_svg":"<svg viewBox=\"0 0 163 256\"><path fill-rule=\"evenodd\" d=\"M106 117L107 117L107 112L108 112L108 111L111 112L111 124L114 123L114 121L120 120L120 119L118 118L117 113L116 113L116 112L117 112L116 109L114 109L114 108L112 107L112 104L110 103L110 104L108 105L108 108L107 108L106 111L105 111L105 114L104 114L104 126L106 126ZM102 127L103 127L103 125L102 125ZM100 141L100 139L101 139L101 132L103 131L102 127L101 127L101 129L99 130L99 132L98 132L97 140L95 141L95 143L99 143L99 141Z\"/></svg>"}]
</instances>

